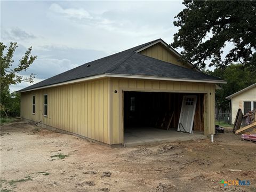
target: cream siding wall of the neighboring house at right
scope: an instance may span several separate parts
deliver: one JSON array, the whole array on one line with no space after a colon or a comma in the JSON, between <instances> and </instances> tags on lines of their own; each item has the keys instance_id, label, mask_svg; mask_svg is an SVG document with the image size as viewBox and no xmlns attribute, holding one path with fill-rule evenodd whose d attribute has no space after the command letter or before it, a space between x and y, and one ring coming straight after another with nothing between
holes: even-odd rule
<instances>
[{"instance_id":1,"label":"cream siding wall of the neighboring house at right","mask_svg":"<svg viewBox=\"0 0 256 192\"><path fill-rule=\"evenodd\" d=\"M234 124L236 119L236 114L240 108L244 114L244 101L255 101L256 102L256 87L247 90L243 93L236 95L231 98L231 107L232 107L232 123ZM244 114L245 115L245 114Z\"/></svg>"}]
</instances>

